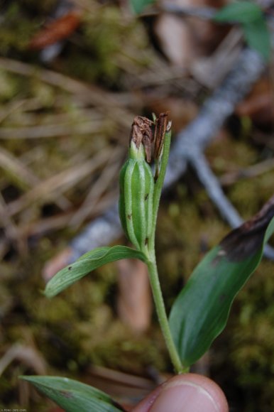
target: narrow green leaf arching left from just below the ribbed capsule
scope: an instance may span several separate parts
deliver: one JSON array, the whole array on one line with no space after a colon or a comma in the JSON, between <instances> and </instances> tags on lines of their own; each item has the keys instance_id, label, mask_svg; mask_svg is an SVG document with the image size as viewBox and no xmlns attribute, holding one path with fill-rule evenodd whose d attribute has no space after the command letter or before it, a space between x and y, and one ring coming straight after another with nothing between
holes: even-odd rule
<instances>
[{"instance_id":1,"label":"narrow green leaf arching left from just below the ribbed capsule","mask_svg":"<svg viewBox=\"0 0 274 412\"><path fill-rule=\"evenodd\" d=\"M80 278L94 269L120 259L140 259L146 262L146 256L135 249L127 246L103 246L87 252L75 263L66 266L57 272L45 287L45 296L52 298Z\"/></svg>"}]
</instances>

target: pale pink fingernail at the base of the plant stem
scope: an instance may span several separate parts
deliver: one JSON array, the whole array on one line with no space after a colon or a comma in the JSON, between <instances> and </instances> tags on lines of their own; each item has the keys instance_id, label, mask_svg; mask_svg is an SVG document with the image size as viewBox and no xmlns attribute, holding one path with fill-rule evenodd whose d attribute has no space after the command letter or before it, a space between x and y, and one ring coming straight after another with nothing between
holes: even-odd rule
<instances>
[{"instance_id":1,"label":"pale pink fingernail at the base of the plant stem","mask_svg":"<svg viewBox=\"0 0 274 412\"><path fill-rule=\"evenodd\" d=\"M219 405L202 386L192 381L171 381L153 403L150 412L219 412Z\"/></svg>"}]
</instances>

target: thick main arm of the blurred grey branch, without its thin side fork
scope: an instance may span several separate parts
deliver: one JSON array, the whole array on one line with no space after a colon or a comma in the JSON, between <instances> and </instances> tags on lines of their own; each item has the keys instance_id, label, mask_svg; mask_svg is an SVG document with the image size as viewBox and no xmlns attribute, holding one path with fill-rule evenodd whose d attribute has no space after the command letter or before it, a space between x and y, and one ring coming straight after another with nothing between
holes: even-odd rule
<instances>
[{"instance_id":1,"label":"thick main arm of the blurred grey branch, without its thin side fork","mask_svg":"<svg viewBox=\"0 0 274 412\"><path fill-rule=\"evenodd\" d=\"M256 51L246 48L241 52L234 69L207 99L196 119L177 135L170 153L167 185L175 182L185 171L189 152L193 148L203 151L209 144L224 121L234 112L236 104L251 90L264 68L263 60Z\"/></svg>"}]
</instances>

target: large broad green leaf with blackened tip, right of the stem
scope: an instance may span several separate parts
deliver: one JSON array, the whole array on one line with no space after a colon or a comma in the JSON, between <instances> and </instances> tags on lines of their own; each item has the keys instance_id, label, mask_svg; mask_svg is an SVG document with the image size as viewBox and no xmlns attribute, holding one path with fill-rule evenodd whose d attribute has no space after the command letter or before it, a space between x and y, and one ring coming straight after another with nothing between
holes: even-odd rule
<instances>
[{"instance_id":1,"label":"large broad green leaf with blackened tip, right of the stem","mask_svg":"<svg viewBox=\"0 0 274 412\"><path fill-rule=\"evenodd\" d=\"M194 269L170 312L172 337L186 367L207 352L224 329L236 294L261 261L273 232L274 196Z\"/></svg>"}]
</instances>

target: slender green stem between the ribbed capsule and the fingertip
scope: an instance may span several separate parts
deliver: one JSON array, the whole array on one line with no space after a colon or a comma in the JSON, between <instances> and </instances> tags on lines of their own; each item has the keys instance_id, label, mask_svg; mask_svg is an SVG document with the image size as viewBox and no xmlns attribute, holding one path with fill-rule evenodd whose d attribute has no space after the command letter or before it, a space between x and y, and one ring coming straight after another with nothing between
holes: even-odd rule
<instances>
[{"instance_id":1,"label":"slender green stem between the ribbed capsule and the fingertip","mask_svg":"<svg viewBox=\"0 0 274 412\"><path fill-rule=\"evenodd\" d=\"M177 374L182 374L183 372L187 372L187 369L183 367L182 362L180 361L179 354L175 347L174 341L172 339L172 335L170 332L170 326L168 324L168 317L165 312L165 304L163 301L163 295L160 288L160 282L158 278L158 270L157 265L155 262L155 256L153 260L147 262L148 265L148 273L150 278L150 286L153 292L153 299L155 303L155 308L158 315L158 320L160 323L160 327L165 338L165 344L167 345L168 352L170 354L171 362L175 368Z\"/></svg>"}]
</instances>

